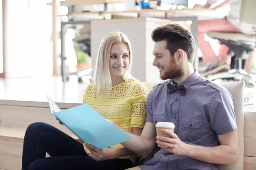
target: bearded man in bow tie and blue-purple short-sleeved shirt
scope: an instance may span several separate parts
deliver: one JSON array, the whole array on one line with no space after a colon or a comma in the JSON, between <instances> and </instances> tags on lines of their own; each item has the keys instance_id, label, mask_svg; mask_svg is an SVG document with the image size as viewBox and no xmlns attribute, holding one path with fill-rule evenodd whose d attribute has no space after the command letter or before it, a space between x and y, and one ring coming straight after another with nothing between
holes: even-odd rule
<instances>
[{"instance_id":1,"label":"bearded man in bow tie and blue-purple short-sleeved shirt","mask_svg":"<svg viewBox=\"0 0 256 170\"><path fill-rule=\"evenodd\" d=\"M239 146L233 98L193 68L192 34L168 24L156 28L152 40L153 65L165 81L148 94L141 136L127 133L133 139L122 145L144 158L156 144L161 148L152 159L129 170L218 170L218 164L235 163ZM162 129L169 137L157 136L157 122L174 123L174 132Z\"/></svg>"}]
</instances>

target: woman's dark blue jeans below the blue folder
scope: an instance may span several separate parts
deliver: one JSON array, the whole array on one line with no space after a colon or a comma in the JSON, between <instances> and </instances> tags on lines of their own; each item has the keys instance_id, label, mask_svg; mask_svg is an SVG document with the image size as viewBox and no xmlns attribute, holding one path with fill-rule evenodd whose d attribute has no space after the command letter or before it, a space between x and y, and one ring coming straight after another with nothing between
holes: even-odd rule
<instances>
[{"instance_id":1,"label":"woman's dark blue jeans below the blue folder","mask_svg":"<svg viewBox=\"0 0 256 170\"><path fill-rule=\"evenodd\" d=\"M49 158L45 158L46 153ZM81 143L43 122L29 125L22 153L22 170L125 170L130 159L95 161Z\"/></svg>"}]
</instances>

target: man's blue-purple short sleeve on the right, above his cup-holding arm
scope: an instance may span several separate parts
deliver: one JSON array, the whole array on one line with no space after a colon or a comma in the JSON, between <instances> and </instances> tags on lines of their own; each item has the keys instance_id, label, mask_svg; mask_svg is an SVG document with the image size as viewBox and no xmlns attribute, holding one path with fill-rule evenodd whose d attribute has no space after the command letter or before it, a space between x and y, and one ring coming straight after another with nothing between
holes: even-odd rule
<instances>
[{"instance_id":1,"label":"man's blue-purple short sleeve on the right, above his cup-holding arm","mask_svg":"<svg viewBox=\"0 0 256 170\"><path fill-rule=\"evenodd\" d=\"M217 135L237 129L233 98L227 91L218 91L209 108L210 125Z\"/></svg>"}]
</instances>

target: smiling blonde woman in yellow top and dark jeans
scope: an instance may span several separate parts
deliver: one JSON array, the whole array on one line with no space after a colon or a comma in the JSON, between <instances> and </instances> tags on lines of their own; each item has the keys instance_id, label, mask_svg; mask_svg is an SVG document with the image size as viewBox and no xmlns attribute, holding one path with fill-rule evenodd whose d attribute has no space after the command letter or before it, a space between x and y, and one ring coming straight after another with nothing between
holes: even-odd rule
<instances>
[{"instance_id":1,"label":"smiling blonde woman in yellow top and dark jeans","mask_svg":"<svg viewBox=\"0 0 256 170\"><path fill-rule=\"evenodd\" d=\"M99 47L95 83L87 87L83 101L106 119L140 136L148 88L131 76L131 64L131 44L125 34L105 35ZM45 158L46 152L50 158ZM100 150L77 142L51 125L36 122L26 130L22 170L125 170L134 167L131 160L136 157L121 144Z\"/></svg>"}]
</instances>

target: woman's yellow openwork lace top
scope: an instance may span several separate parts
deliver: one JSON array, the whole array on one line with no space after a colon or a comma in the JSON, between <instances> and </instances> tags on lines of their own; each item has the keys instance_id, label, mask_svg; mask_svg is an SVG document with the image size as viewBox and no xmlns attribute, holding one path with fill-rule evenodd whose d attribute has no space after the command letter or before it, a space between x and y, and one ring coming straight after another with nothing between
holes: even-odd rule
<instances>
[{"instance_id":1,"label":"woman's yellow openwork lace top","mask_svg":"<svg viewBox=\"0 0 256 170\"><path fill-rule=\"evenodd\" d=\"M133 133L132 127L143 128L146 122L146 102L148 88L138 80L128 80L113 86L111 92L97 94L95 83L91 83L83 96L84 104L89 104L93 109L106 119L118 124L124 130ZM109 149L118 149L122 144L116 144ZM90 151L84 145L84 150L90 156ZM119 157L130 159L137 157L135 154Z\"/></svg>"}]
</instances>

